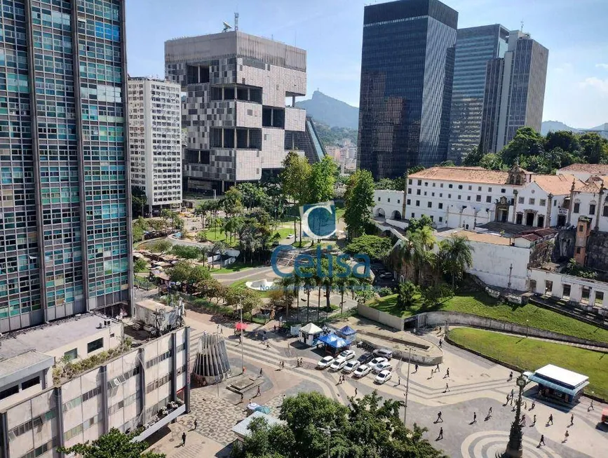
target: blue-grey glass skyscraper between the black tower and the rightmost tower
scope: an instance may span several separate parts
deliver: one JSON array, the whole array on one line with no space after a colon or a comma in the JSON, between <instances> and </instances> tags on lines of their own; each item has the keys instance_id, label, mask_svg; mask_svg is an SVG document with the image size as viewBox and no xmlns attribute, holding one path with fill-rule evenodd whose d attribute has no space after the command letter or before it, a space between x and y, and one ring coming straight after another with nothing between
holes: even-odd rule
<instances>
[{"instance_id":1,"label":"blue-grey glass skyscraper between the black tower and the rightmost tower","mask_svg":"<svg viewBox=\"0 0 608 458\"><path fill-rule=\"evenodd\" d=\"M508 34L499 24L458 29L447 154L454 163L479 145L487 62L504 57Z\"/></svg>"}]
</instances>

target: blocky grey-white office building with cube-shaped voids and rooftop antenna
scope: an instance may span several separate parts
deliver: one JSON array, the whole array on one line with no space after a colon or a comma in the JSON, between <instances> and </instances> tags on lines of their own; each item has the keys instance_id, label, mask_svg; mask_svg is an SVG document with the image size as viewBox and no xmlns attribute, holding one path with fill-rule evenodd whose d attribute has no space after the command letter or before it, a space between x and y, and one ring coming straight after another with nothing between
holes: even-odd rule
<instances>
[{"instance_id":1,"label":"blocky grey-white office building with cube-shaped voids and rooftop antenna","mask_svg":"<svg viewBox=\"0 0 608 458\"><path fill-rule=\"evenodd\" d=\"M240 31L174 39L165 42L165 74L187 92L185 189L222 193L260 180L290 149L323 156L306 111L294 106L306 94L305 50Z\"/></svg>"}]
</instances>

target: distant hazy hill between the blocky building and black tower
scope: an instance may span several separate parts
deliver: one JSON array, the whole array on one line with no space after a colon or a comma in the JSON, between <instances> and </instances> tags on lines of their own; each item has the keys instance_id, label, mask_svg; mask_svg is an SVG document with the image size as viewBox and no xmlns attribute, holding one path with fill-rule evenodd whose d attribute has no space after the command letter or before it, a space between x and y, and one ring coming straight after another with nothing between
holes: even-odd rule
<instances>
[{"instance_id":1,"label":"distant hazy hill between the blocky building and black tower","mask_svg":"<svg viewBox=\"0 0 608 458\"><path fill-rule=\"evenodd\" d=\"M309 100L296 102L296 107L304 108L306 114L330 127L357 129L359 126L359 109L342 100L325 95L318 90Z\"/></svg>"}]
</instances>

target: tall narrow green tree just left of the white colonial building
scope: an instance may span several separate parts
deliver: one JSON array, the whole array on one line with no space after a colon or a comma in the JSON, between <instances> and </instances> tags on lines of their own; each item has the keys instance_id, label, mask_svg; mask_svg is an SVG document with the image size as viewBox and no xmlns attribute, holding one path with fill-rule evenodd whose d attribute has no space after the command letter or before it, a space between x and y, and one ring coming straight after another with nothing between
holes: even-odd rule
<instances>
[{"instance_id":1,"label":"tall narrow green tree just left of the white colonial building","mask_svg":"<svg viewBox=\"0 0 608 458\"><path fill-rule=\"evenodd\" d=\"M369 170L359 169L349 177L344 194L344 205L347 236L352 240L364 234L365 226L374 208L374 179Z\"/></svg>"}]
</instances>

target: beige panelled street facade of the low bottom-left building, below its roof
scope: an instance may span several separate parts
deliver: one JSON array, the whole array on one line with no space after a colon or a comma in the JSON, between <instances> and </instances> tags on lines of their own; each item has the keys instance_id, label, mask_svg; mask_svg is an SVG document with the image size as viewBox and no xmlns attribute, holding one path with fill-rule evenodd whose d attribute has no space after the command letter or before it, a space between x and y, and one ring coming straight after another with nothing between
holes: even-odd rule
<instances>
[{"instance_id":1,"label":"beige panelled street facade of the low bottom-left building, below its roof","mask_svg":"<svg viewBox=\"0 0 608 458\"><path fill-rule=\"evenodd\" d=\"M13 358L32 363L20 372L38 370L40 363L25 361L25 354ZM51 357L50 364L58 361ZM36 384L26 398L0 407L0 458L60 457L57 447L95 440L112 428L144 426L137 436L144 440L188 412L188 374L189 328L179 328L71 379Z\"/></svg>"}]
</instances>

